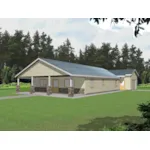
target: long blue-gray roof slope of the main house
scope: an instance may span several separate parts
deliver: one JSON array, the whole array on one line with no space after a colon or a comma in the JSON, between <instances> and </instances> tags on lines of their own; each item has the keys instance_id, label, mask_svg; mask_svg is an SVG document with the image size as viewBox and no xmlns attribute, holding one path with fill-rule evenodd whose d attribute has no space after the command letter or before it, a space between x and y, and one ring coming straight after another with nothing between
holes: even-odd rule
<instances>
[{"instance_id":1,"label":"long blue-gray roof slope of the main house","mask_svg":"<svg viewBox=\"0 0 150 150\"><path fill-rule=\"evenodd\" d=\"M103 69L103 68L99 68L99 67L58 61L58 60L53 60L53 59L45 59L45 58L40 58L40 59L66 71L72 75L101 76L101 77L108 77L108 78L118 78L116 75L114 75L110 71Z\"/></svg>"}]
</instances>

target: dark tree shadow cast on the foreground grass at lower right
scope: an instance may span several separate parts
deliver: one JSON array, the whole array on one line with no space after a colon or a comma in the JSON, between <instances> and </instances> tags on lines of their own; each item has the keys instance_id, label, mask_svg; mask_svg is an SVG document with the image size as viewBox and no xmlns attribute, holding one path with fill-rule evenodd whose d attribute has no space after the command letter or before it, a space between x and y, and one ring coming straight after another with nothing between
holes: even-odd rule
<instances>
[{"instance_id":1,"label":"dark tree shadow cast on the foreground grass at lower right","mask_svg":"<svg viewBox=\"0 0 150 150\"><path fill-rule=\"evenodd\" d=\"M141 123L142 121L139 116L95 118L87 124L79 125L77 131L102 131L104 127L111 128L118 124Z\"/></svg>"}]
</instances>

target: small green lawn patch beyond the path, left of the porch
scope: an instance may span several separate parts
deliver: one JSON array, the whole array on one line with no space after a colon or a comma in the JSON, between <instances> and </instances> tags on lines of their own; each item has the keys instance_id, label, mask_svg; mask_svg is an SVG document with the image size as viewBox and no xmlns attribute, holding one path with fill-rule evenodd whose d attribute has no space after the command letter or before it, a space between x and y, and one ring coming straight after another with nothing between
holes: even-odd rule
<instances>
[{"instance_id":1,"label":"small green lawn patch beyond the path, left of the porch","mask_svg":"<svg viewBox=\"0 0 150 150\"><path fill-rule=\"evenodd\" d=\"M21 92L29 91L29 87L22 87ZM0 88L0 97L3 96L16 96L16 88Z\"/></svg>"}]
</instances>

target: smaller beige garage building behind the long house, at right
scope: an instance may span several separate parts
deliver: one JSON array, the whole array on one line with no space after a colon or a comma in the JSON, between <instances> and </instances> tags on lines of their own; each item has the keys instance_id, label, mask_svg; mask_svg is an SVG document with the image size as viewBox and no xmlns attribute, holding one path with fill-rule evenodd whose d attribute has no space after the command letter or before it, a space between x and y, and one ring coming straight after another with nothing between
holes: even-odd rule
<instances>
[{"instance_id":1,"label":"smaller beige garage building behind the long house, at right","mask_svg":"<svg viewBox=\"0 0 150 150\"><path fill-rule=\"evenodd\" d=\"M138 83L138 73L136 69L109 70L120 77L120 90L136 90Z\"/></svg>"}]
</instances>

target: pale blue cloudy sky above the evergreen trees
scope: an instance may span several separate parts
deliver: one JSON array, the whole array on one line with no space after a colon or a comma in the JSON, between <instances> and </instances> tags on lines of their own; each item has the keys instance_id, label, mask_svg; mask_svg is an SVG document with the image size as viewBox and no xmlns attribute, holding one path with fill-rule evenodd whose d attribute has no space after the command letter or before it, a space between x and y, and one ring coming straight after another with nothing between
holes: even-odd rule
<instances>
[{"instance_id":1,"label":"pale blue cloudy sky above the evergreen trees","mask_svg":"<svg viewBox=\"0 0 150 150\"><path fill-rule=\"evenodd\" d=\"M143 25L144 32L138 38L134 37L134 25L127 23L111 24L110 19L100 25L90 21L89 18L57 18L57 19L0 19L2 31L8 30L14 33L15 30L30 32L31 35L38 30L45 32L53 39L54 47L61 45L67 38L71 41L74 52L79 53L85 45L94 43L100 47L103 42L109 42L112 46L118 44L121 48L125 43L129 46L134 44L143 51L143 57L150 59L150 25Z\"/></svg>"}]
</instances>

